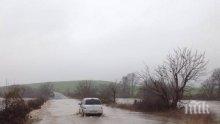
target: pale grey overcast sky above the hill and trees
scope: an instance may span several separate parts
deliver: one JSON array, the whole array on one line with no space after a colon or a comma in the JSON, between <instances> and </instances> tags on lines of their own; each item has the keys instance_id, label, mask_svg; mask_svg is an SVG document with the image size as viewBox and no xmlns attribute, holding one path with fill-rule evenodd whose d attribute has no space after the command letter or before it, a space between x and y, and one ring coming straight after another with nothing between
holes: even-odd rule
<instances>
[{"instance_id":1,"label":"pale grey overcast sky above the hill and trees","mask_svg":"<svg viewBox=\"0 0 220 124\"><path fill-rule=\"evenodd\" d=\"M220 67L219 0L0 0L0 81L116 80L177 47Z\"/></svg>"}]
</instances>

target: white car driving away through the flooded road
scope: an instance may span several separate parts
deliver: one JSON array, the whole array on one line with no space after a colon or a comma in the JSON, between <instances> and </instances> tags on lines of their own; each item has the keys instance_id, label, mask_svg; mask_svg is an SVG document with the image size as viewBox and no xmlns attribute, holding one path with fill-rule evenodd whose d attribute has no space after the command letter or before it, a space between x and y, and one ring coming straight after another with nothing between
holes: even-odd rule
<instances>
[{"instance_id":1,"label":"white car driving away through the flooded road","mask_svg":"<svg viewBox=\"0 0 220 124\"><path fill-rule=\"evenodd\" d=\"M87 115L97 115L101 116L103 114L103 108L101 100L98 98L84 98L82 102L79 103L79 112L83 116Z\"/></svg>"}]
</instances>

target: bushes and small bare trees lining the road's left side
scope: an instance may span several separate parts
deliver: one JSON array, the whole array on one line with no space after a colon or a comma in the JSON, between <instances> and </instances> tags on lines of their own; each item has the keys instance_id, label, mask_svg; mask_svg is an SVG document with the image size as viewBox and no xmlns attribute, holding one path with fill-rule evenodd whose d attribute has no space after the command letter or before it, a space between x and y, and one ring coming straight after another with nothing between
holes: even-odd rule
<instances>
[{"instance_id":1,"label":"bushes and small bare trees lining the road's left side","mask_svg":"<svg viewBox=\"0 0 220 124\"><path fill-rule=\"evenodd\" d=\"M8 86L4 89L0 124L24 124L30 111L39 109L44 102L53 97L50 84L44 84L35 90L22 86Z\"/></svg>"}]
</instances>

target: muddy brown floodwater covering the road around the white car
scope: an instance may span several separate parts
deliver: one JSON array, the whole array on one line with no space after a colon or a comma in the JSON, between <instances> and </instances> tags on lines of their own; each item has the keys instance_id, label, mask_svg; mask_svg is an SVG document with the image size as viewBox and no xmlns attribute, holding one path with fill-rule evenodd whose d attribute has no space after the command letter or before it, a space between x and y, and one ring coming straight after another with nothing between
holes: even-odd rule
<instances>
[{"instance_id":1,"label":"muddy brown floodwater covering the road around the white car","mask_svg":"<svg viewBox=\"0 0 220 124\"><path fill-rule=\"evenodd\" d=\"M33 111L38 121L34 124L175 124L169 118L131 112L104 106L102 117L82 117L78 114L79 101L75 99L49 100L42 109ZM35 118L35 117L33 117ZM177 122L176 122L177 123Z\"/></svg>"}]
</instances>

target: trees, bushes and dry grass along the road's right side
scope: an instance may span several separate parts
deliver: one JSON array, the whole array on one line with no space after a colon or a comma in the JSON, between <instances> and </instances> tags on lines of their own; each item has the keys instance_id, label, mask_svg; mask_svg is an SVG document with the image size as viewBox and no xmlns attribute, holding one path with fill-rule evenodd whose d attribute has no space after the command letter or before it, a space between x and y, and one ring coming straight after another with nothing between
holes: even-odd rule
<instances>
[{"instance_id":1,"label":"trees, bushes and dry grass along the road's right side","mask_svg":"<svg viewBox=\"0 0 220 124\"><path fill-rule=\"evenodd\" d=\"M119 82L99 87L85 80L66 95L73 98L98 97L107 105L133 111L156 113L167 116L175 113L175 118L185 123L212 123L215 115L187 115L184 113L183 99L219 100L220 69L198 88L193 86L206 72L205 53L188 48L176 49L157 69L151 71L146 65L141 73L130 73ZM142 83L140 83L142 82ZM196 93L193 93L195 92ZM116 98L136 98L133 104L118 104Z\"/></svg>"}]
</instances>

